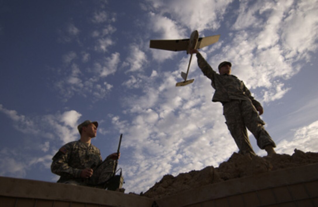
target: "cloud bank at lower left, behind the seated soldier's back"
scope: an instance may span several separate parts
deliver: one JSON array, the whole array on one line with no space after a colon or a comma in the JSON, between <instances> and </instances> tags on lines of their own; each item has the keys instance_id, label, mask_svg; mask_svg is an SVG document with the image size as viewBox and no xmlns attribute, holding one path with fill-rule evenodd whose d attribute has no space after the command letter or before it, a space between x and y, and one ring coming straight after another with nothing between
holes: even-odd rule
<instances>
[{"instance_id":1,"label":"cloud bank at lower left, behind the seated soldier's back","mask_svg":"<svg viewBox=\"0 0 318 207\"><path fill-rule=\"evenodd\" d=\"M24 178L27 171L37 164L49 170L52 156L57 151L56 146L78 139L77 125L81 114L74 110L62 114L27 117L0 105L0 112L6 114L13 126L25 135L25 140L20 139L20 142L29 143L29 135L37 137L33 138L29 146L17 145L13 149L0 149L1 176Z\"/></svg>"}]
</instances>

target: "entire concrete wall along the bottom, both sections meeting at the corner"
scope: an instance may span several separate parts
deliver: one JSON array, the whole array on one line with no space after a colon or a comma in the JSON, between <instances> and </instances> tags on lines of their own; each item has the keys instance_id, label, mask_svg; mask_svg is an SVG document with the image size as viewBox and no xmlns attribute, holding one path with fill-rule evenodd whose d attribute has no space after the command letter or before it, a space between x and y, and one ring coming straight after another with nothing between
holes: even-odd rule
<instances>
[{"instance_id":1,"label":"entire concrete wall along the bottom, both sections meeting at the corner","mask_svg":"<svg viewBox=\"0 0 318 207\"><path fill-rule=\"evenodd\" d=\"M114 191L0 177L0 206L317 206L318 164L202 186L156 200Z\"/></svg>"}]
</instances>

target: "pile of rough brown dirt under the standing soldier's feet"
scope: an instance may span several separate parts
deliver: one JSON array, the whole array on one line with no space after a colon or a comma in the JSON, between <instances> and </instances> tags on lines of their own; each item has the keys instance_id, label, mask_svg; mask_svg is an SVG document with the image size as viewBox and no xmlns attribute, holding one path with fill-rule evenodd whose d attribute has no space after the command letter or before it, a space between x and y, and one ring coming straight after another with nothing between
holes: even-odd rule
<instances>
[{"instance_id":1,"label":"pile of rough brown dirt under the standing soldier's feet","mask_svg":"<svg viewBox=\"0 0 318 207\"><path fill-rule=\"evenodd\" d=\"M318 163L318 153L302 152L295 149L293 155L276 154L272 157L259 157L233 153L219 167L205 167L200 171L180 173L176 177L165 175L142 196L159 199L177 194L203 185L223 182L225 180L257 175L269 171L294 168L302 165Z\"/></svg>"}]
</instances>

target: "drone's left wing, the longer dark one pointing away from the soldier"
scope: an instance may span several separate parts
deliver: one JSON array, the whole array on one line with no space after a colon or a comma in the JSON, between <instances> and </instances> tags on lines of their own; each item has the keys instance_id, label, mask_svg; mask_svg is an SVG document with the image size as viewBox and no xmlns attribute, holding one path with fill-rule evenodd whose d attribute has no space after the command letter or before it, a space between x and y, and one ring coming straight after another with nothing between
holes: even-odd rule
<instances>
[{"instance_id":1,"label":"drone's left wing, the longer dark one pointing away from the soldier","mask_svg":"<svg viewBox=\"0 0 318 207\"><path fill-rule=\"evenodd\" d=\"M181 40L150 40L150 48L164 49L171 51L187 50L189 39Z\"/></svg>"}]
</instances>

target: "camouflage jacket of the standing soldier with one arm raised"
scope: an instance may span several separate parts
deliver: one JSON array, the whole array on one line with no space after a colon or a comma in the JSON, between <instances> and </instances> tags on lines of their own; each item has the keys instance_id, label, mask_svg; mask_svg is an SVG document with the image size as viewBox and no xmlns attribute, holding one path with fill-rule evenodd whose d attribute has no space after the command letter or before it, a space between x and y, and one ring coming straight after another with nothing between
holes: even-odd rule
<instances>
[{"instance_id":1,"label":"camouflage jacket of the standing soldier with one arm raised","mask_svg":"<svg viewBox=\"0 0 318 207\"><path fill-rule=\"evenodd\" d=\"M197 53L197 62L203 74L211 80L211 86L215 89L213 102L228 102L231 100L251 100L255 107L261 104L254 99L243 81L234 75L220 75L206 62L200 53Z\"/></svg>"}]
</instances>

